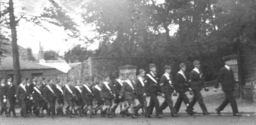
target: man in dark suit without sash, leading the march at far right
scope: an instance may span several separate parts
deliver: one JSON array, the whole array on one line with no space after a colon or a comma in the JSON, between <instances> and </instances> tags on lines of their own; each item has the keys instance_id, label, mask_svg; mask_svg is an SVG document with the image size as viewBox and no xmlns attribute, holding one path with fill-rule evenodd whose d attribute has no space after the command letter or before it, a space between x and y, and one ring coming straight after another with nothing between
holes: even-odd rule
<instances>
[{"instance_id":1,"label":"man in dark suit without sash, leading the march at far right","mask_svg":"<svg viewBox=\"0 0 256 125\"><path fill-rule=\"evenodd\" d=\"M216 88L218 88L219 83L221 83L222 90L225 93L225 100L216 109L216 111L217 111L217 114L220 115L221 111L227 106L228 103L230 103L233 111L233 116L241 116L241 114L239 114L238 112L236 99L234 98L234 95L233 95L235 81L234 81L233 71L230 68L231 59L232 59L231 56L223 57L223 60L225 61L225 66L220 69L220 72L217 77L217 83L215 85L214 91L217 91Z\"/></svg>"}]
</instances>

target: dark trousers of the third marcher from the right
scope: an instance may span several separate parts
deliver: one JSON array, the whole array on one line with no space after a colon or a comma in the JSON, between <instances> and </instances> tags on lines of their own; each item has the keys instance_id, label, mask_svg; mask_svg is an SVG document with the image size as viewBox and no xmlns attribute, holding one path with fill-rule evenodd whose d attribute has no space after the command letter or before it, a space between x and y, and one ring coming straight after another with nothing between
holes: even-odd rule
<instances>
[{"instance_id":1,"label":"dark trousers of the third marcher from the right","mask_svg":"<svg viewBox=\"0 0 256 125\"><path fill-rule=\"evenodd\" d=\"M180 110L180 106L181 106L182 101L184 102L184 104L186 106L189 105L189 100L188 100L187 95L185 94L185 92L179 92L179 97L177 98L177 101L176 101L175 106L174 106L174 108L176 109L177 112L179 112L179 110Z\"/></svg>"}]
</instances>

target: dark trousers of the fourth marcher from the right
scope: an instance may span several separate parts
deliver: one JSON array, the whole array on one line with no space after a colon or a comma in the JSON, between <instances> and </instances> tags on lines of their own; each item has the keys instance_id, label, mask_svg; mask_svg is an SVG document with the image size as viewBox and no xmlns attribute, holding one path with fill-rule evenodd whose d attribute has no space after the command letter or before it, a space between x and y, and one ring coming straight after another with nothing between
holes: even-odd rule
<instances>
[{"instance_id":1,"label":"dark trousers of the fourth marcher from the right","mask_svg":"<svg viewBox=\"0 0 256 125\"><path fill-rule=\"evenodd\" d=\"M173 106L172 93L168 93L168 92L164 93L164 102L163 102L162 105L160 106L160 111L161 111L161 113L162 113L162 111L163 111L164 109L167 108L167 106L169 106L170 112L171 112L172 114L177 114L176 109L175 109L174 106Z\"/></svg>"}]
</instances>

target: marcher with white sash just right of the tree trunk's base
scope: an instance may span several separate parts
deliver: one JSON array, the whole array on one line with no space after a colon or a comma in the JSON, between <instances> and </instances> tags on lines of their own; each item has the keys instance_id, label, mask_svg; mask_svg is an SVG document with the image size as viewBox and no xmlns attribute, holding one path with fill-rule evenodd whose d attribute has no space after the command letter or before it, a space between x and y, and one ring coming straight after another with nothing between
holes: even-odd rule
<instances>
[{"instance_id":1,"label":"marcher with white sash just right of the tree trunk's base","mask_svg":"<svg viewBox=\"0 0 256 125\"><path fill-rule=\"evenodd\" d=\"M22 107L22 110L20 110L20 114L23 117L28 117L27 115L27 106L26 106L26 99L28 99L29 93L26 89L26 79L22 79L22 83L19 84L16 90L16 99L20 103L20 107Z\"/></svg>"}]
</instances>

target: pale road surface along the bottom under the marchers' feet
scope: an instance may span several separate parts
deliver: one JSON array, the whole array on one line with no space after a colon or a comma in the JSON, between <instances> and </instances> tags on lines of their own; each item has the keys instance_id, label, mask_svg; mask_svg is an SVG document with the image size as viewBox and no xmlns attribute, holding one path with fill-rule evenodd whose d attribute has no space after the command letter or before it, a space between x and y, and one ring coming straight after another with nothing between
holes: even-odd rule
<instances>
[{"instance_id":1,"label":"pale road surface along the bottom under the marchers' feet","mask_svg":"<svg viewBox=\"0 0 256 125\"><path fill-rule=\"evenodd\" d=\"M243 114L241 117L232 116L230 113L223 114L222 116L217 116L216 114L211 115L201 115L196 114L194 116L186 115L186 114L180 114L179 117L170 117L169 114L165 114L164 118L145 118L143 116L140 116L138 119L132 119L131 117L124 117L121 118L121 116L117 116L116 118L106 118L106 117L96 117L96 118L87 118L87 117L75 117L75 118L69 118L69 117L57 117L57 118L51 118L51 117L43 117L43 118L37 118L37 117L29 117L29 118L6 118L6 117L0 117L0 124L61 124L61 125L70 125L70 124L114 124L114 125L120 125L120 124L140 124L140 125L150 125L150 124L256 124L256 117L254 114Z\"/></svg>"}]
</instances>

